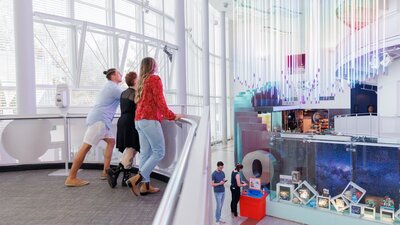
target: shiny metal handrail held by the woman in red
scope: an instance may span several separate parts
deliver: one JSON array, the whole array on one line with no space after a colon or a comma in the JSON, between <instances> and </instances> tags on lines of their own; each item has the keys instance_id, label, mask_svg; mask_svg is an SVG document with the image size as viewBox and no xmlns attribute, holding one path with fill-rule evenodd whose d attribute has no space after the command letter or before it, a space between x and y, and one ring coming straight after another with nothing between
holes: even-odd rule
<instances>
[{"instance_id":1,"label":"shiny metal handrail held by the woman in red","mask_svg":"<svg viewBox=\"0 0 400 225\"><path fill-rule=\"evenodd\" d=\"M154 217L153 225L170 225L172 223L174 209L178 202L178 196L183 183L182 180L184 178L185 167L189 158L188 156L190 148L192 146L194 136L196 135L198 126L196 121L188 118L181 118L179 121L188 123L191 125L191 127L183 146L181 156L179 157L174 172L169 179L167 188L165 189L163 198Z\"/></svg>"}]
</instances>

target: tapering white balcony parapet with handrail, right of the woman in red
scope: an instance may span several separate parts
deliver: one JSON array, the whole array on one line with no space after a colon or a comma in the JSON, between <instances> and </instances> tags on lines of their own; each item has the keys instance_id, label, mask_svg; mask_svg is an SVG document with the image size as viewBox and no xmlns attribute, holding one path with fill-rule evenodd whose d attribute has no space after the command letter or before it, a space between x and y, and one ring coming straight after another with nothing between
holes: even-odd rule
<instances>
[{"instance_id":1,"label":"tapering white balcony parapet with handrail, right of the woman in red","mask_svg":"<svg viewBox=\"0 0 400 225\"><path fill-rule=\"evenodd\" d=\"M197 132L192 125L153 225L187 224L187 221L193 225L211 224L209 116L209 107L205 107Z\"/></svg>"}]
</instances>

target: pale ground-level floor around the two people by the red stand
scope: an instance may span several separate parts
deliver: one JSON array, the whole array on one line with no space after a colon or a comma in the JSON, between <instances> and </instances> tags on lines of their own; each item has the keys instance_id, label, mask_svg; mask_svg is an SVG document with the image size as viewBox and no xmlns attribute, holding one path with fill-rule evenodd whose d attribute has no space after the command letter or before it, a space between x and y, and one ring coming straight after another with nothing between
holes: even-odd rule
<instances>
[{"instance_id":1,"label":"pale ground-level floor around the two people by the red stand","mask_svg":"<svg viewBox=\"0 0 400 225\"><path fill-rule=\"evenodd\" d=\"M228 144L217 144L212 146L211 163L216 168L217 162L224 162L225 176L230 179L231 171L234 169L234 147L233 141L229 141ZM229 182L228 182L229 183ZM270 216L264 217L261 221L255 221L246 217L238 217L237 219L232 218L230 212L231 192L229 190L229 184L225 185L225 201L222 208L222 219L226 222L226 225L298 225L299 223L282 220ZM215 213L215 200L213 199L213 213Z\"/></svg>"}]
</instances>

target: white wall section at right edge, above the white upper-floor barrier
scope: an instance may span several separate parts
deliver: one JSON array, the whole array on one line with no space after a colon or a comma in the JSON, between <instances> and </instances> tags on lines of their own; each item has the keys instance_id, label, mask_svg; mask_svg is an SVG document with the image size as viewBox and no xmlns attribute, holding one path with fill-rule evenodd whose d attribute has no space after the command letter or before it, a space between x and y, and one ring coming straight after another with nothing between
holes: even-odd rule
<instances>
[{"instance_id":1,"label":"white wall section at right edge, above the white upper-floor barrier","mask_svg":"<svg viewBox=\"0 0 400 225\"><path fill-rule=\"evenodd\" d=\"M400 116L398 107L400 104L400 60L389 65L387 75L378 77L378 114L382 116Z\"/></svg>"}]
</instances>

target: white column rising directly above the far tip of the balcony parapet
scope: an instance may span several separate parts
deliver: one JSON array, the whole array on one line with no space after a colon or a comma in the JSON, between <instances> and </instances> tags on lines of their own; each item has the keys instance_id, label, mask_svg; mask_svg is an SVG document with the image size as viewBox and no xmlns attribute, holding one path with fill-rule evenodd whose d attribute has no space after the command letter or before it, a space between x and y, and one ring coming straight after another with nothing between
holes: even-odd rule
<instances>
[{"instance_id":1,"label":"white column rising directly above the far tip of the balcony parapet","mask_svg":"<svg viewBox=\"0 0 400 225\"><path fill-rule=\"evenodd\" d=\"M209 36L209 15L208 0L204 0L202 10L202 31L203 31L203 106L210 105L210 36Z\"/></svg>"}]
</instances>

